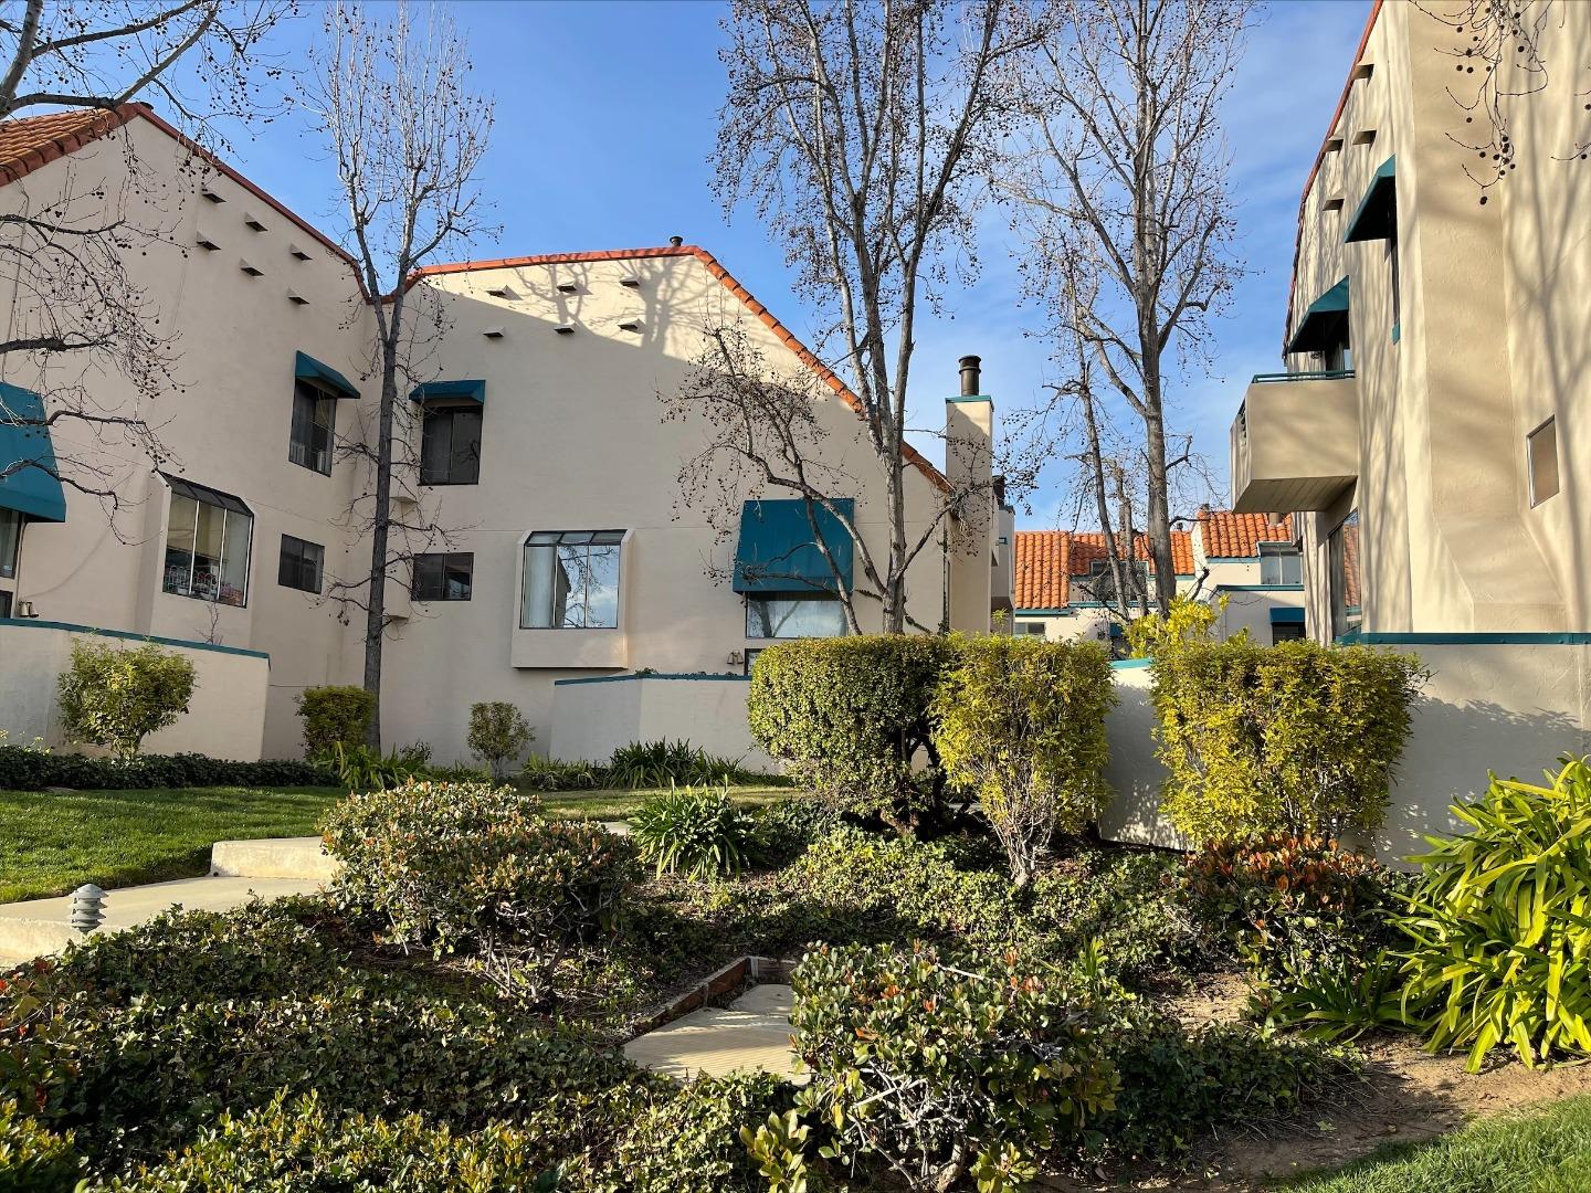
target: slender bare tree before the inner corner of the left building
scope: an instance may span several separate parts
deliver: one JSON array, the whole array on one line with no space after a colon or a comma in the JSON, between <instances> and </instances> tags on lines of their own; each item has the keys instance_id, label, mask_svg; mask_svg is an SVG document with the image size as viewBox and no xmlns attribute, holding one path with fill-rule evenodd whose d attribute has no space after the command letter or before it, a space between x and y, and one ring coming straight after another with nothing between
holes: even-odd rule
<instances>
[{"instance_id":1,"label":"slender bare tree before the inner corner of the left building","mask_svg":"<svg viewBox=\"0 0 1591 1193\"><path fill-rule=\"evenodd\" d=\"M339 444L368 469L369 484L348 514L369 534L371 565L363 576L329 582L328 596L344 616L364 616L364 689L377 701L369 744L380 746L387 582L407 581L415 554L444 536L417 501L404 503L412 514L393 507L395 474L414 463L415 415L404 394L430 380L425 359L444 320L441 299L410 282L444 250L493 231L482 223L476 180L493 102L471 89L466 46L439 6L415 22L406 3L380 17L336 3L317 65L307 102L336 159L345 240L371 296L371 369L380 385L374 428ZM398 476L399 485L406 480Z\"/></svg>"}]
</instances>

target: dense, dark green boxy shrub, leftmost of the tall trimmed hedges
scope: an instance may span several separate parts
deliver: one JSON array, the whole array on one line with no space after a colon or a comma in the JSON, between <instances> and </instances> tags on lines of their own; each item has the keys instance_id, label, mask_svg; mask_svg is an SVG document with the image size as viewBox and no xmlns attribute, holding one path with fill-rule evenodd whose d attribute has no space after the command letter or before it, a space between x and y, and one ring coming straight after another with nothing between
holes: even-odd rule
<instances>
[{"instance_id":1,"label":"dense, dark green boxy shrub, leftmost of the tall trimmed hedges","mask_svg":"<svg viewBox=\"0 0 1591 1193\"><path fill-rule=\"evenodd\" d=\"M950 657L947 638L913 635L770 646L751 668L751 736L832 806L910 832L939 811L929 708Z\"/></svg>"}]
</instances>

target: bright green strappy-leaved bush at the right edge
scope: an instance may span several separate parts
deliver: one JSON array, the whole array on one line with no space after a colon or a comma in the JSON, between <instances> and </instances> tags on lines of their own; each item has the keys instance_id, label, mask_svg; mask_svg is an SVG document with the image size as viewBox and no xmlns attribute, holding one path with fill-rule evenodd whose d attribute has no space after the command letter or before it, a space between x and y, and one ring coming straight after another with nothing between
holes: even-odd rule
<instances>
[{"instance_id":1,"label":"bright green strappy-leaved bush at the right edge","mask_svg":"<svg viewBox=\"0 0 1591 1193\"><path fill-rule=\"evenodd\" d=\"M1591 1053L1591 765L1564 759L1551 786L1492 776L1453 805L1470 830L1430 838L1398 927L1411 938L1403 1005L1429 1045L1499 1043L1527 1066Z\"/></svg>"}]
</instances>

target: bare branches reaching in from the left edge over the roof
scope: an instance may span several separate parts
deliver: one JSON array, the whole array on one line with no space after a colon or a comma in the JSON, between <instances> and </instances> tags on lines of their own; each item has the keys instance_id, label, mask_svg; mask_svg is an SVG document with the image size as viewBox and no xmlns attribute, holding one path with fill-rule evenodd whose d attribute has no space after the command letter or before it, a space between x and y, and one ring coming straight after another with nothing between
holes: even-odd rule
<instances>
[{"instance_id":1,"label":"bare branches reaching in from the left edge over the roof","mask_svg":"<svg viewBox=\"0 0 1591 1193\"><path fill-rule=\"evenodd\" d=\"M218 118L247 121L275 107L261 86L270 65L259 45L290 8L290 0L0 2L0 119L37 118L40 135L91 140L116 135L124 105L158 99L194 143L218 143ZM167 227L183 196L138 161L130 137L118 143L119 177L67 159L54 167L59 186L13 186L14 202L0 212L0 269L14 280L0 375L27 383L0 393L0 422L33 431L24 439L38 447L0 460L0 479L49 472L95 496L119 534L127 458L159 466L167 457L150 404L181 390L175 337L130 264L183 251ZM180 177L208 169L191 154ZM0 181L21 173L0 169ZM107 374L126 380L130 398L107 398L99 383ZM65 434L49 434L57 429Z\"/></svg>"}]
</instances>

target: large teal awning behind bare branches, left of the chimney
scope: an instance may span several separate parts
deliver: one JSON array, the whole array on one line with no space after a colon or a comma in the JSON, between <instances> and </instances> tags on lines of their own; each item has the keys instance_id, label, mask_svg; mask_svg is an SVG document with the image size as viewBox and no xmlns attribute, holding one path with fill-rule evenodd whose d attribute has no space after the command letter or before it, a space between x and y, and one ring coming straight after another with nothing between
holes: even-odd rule
<instances>
[{"instance_id":1,"label":"large teal awning behind bare branches, left of the chimney","mask_svg":"<svg viewBox=\"0 0 1591 1193\"><path fill-rule=\"evenodd\" d=\"M846 519L856 517L851 498L832 501ZM821 506L813 506L815 517L807 515L807 503L748 501L740 511L740 542L735 547L735 592L837 592L835 569L840 587L851 587L851 562L856 544L845 525ZM834 569L818 549L813 538L813 522L823 534Z\"/></svg>"}]
</instances>

